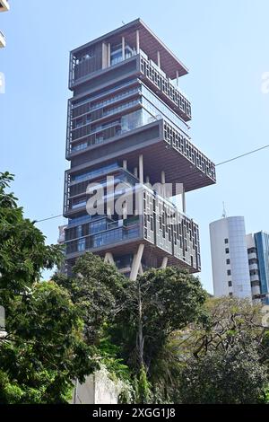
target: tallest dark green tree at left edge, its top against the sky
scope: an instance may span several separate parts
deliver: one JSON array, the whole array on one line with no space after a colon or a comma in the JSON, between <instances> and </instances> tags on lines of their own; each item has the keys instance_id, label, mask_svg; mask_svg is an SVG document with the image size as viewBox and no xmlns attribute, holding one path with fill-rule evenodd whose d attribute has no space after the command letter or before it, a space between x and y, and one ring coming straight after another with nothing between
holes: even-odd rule
<instances>
[{"instance_id":1,"label":"tallest dark green tree at left edge, its top against the sky","mask_svg":"<svg viewBox=\"0 0 269 422\"><path fill-rule=\"evenodd\" d=\"M46 245L45 236L23 217L17 198L7 193L13 175L0 172L0 289L10 299L27 291L40 278L40 271L51 269L63 259L59 245ZM8 306L8 303L5 303Z\"/></svg>"}]
</instances>

